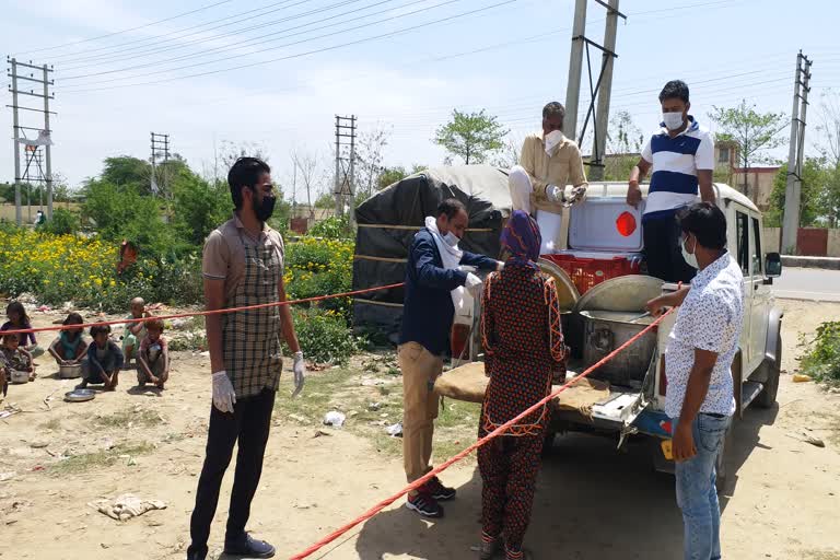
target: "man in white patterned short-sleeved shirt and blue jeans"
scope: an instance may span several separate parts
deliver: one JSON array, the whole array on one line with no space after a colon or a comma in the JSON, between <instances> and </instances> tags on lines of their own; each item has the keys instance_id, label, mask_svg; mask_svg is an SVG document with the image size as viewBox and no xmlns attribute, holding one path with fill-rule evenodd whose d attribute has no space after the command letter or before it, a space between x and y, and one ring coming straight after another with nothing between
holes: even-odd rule
<instances>
[{"instance_id":1,"label":"man in white patterned short-sleeved shirt and blue jeans","mask_svg":"<svg viewBox=\"0 0 840 560\"><path fill-rule=\"evenodd\" d=\"M744 319L744 277L726 252L726 218L711 202L679 217L682 252L699 272L690 288L656 298L658 315L679 305L665 353L665 412L674 425L677 503L685 524L685 559L720 560L718 454L735 412L730 368Z\"/></svg>"}]
</instances>

